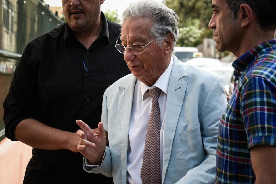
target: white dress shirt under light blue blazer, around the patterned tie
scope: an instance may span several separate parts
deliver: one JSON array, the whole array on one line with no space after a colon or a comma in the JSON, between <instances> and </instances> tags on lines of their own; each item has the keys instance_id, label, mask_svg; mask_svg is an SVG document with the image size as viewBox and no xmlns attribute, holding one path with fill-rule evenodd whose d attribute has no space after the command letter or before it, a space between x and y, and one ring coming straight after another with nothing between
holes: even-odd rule
<instances>
[{"instance_id":1,"label":"white dress shirt under light blue blazer, around the patterned tie","mask_svg":"<svg viewBox=\"0 0 276 184\"><path fill-rule=\"evenodd\" d=\"M163 168L163 131L166 113L168 84L170 73L173 67L173 57L170 60L168 68L158 78L156 83L149 87L137 81L134 88L133 103L131 109L131 118L129 124L129 140L127 154L127 182L130 184L142 184L140 177L144 148L147 134L147 126L150 119L152 101L148 89L158 87L162 90L158 98L160 107L161 130L160 130L160 171L162 178Z\"/></svg>"}]
</instances>

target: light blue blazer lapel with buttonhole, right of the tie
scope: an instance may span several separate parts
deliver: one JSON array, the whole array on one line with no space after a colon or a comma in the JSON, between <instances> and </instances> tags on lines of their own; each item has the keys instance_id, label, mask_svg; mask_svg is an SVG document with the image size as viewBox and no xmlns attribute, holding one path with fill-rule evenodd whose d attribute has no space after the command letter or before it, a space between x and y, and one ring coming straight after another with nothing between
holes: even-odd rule
<instances>
[{"instance_id":1,"label":"light blue blazer lapel with buttonhole, right of the tie","mask_svg":"<svg viewBox=\"0 0 276 184\"><path fill-rule=\"evenodd\" d=\"M166 104L165 127L164 127L164 155L162 183L164 182L166 170L168 168L170 155L173 147L173 138L177 126L179 114L183 105L183 99L188 84L188 75L183 64L173 57L173 68L168 86L168 96Z\"/></svg>"}]
</instances>

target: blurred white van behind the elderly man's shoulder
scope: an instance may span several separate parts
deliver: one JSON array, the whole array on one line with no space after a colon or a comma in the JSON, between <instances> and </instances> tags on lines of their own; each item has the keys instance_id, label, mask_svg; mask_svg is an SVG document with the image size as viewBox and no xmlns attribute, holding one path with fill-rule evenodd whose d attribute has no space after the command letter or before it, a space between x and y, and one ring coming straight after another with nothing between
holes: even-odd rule
<instances>
[{"instance_id":1,"label":"blurred white van behind the elderly man's shoulder","mask_svg":"<svg viewBox=\"0 0 276 184\"><path fill-rule=\"evenodd\" d=\"M198 52L196 47L175 47L175 56L182 62L193 57L202 57L202 52Z\"/></svg>"}]
</instances>

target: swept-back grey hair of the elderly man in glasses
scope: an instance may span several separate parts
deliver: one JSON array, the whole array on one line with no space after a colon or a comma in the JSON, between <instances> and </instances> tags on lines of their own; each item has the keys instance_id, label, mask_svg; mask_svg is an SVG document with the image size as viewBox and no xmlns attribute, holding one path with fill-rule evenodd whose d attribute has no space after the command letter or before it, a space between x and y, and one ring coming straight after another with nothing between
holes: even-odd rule
<instances>
[{"instance_id":1,"label":"swept-back grey hair of the elderly man in glasses","mask_svg":"<svg viewBox=\"0 0 276 184\"><path fill-rule=\"evenodd\" d=\"M131 3L129 7L124 10L122 24L128 18L139 17L153 20L154 23L149 34L155 38L159 47L161 47L162 42L166 39L166 34L173 34L173 52L179 34L179 17L175 11L156 1L139 1Z\"/></svg>"}]
</instances>

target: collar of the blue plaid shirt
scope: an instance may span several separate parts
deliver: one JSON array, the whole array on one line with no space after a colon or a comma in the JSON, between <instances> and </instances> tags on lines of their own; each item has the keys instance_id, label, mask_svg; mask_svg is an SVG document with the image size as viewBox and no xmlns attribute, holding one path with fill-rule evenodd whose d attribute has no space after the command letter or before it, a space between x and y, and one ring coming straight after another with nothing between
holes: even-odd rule
<instances>
[{"instance_id":1,"label":"collar of the blue plaid shirt","mask_svg":"<svg viewBox=\"0 0 276 184\"><path fill-rule=\"evenodd\" d=\"M252 65L260 55L262 55L266 51L271 51L275 49L275 39L265 41L260 45L254 47L253 49L250 49L232 63L232 66L235 68L234 75L236 77L239 76L239 72L244 72L244 70Z\"/></svg>"}]
</instances>

